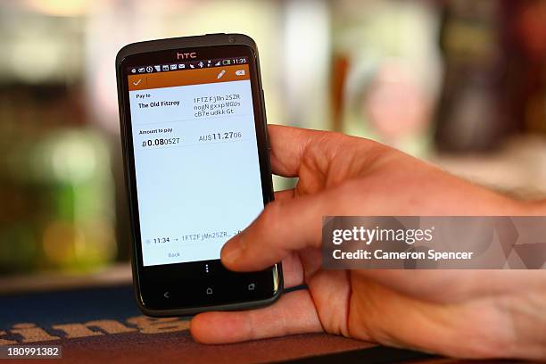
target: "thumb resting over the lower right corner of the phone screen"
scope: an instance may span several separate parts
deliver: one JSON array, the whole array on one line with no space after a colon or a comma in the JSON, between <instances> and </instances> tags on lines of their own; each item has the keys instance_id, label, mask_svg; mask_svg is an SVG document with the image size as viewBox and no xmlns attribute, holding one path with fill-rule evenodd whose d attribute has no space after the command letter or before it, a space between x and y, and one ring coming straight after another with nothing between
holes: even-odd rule
<instances>
[{"instance_id":1,"label":"thumb resting over the lower right corner of the phone screen","mask_svg":"<svg viewBox=\"0 0 546 364\"><path fill-rule=\"evenodd\" d=\"M321 193L269 203L249 227L224 245L222 263L227 269L261 270L290 252L320 247L326 202Z\"/></svg>"}]
</instances>

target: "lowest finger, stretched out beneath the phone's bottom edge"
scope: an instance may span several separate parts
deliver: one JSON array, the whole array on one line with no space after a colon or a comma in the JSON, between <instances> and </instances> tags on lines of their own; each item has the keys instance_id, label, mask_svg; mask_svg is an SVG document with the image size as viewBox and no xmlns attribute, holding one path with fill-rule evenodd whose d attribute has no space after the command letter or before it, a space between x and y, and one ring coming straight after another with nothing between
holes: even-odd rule
<instances>
[{"instance_id":1,"label":"lowest finger, stretched out beneath the phone's bottom edge","mask_svg":"<svg viewBox=\"0 0 546 364\"><path fill-rule=\"evenodd\" d=\"M258 310L200 313L190 323L190 332L199 343L237 343L322 331L308 290L285 294Z\"/></svg>"}]
</instances>

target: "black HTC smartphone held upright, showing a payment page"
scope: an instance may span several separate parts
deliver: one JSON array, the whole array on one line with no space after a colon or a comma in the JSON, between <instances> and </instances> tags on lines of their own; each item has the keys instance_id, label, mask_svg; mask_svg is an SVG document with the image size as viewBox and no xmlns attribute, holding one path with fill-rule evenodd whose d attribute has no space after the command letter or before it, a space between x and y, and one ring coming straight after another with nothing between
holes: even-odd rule
<instances>
[{"instance_id":1,"label":"black HTC smartphone held upright, showing a payment page","mask_svg":"<svg viewBox=\"0 0 546 364\"><path fill-rule=\"evenodd\" d=\"M134 43L118 53L116 72L139 308L186 316L277 300L280 263L240 273L219 260L274 198L252 38Z\"/></svg>"}]
</instances>

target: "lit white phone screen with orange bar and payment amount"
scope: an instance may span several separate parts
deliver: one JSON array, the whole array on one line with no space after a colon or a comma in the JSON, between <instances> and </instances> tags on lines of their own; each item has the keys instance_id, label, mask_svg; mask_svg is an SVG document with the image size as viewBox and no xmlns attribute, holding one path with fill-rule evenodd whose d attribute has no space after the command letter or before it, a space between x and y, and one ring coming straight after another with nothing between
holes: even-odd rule
<instances>
[{"instance_id":1,"label":"lit white phone screen with orange bar and payment amount","mask_svg":"<svg viewBox=\"0 0 546 364\"><path fill-rule=\"evenodd\" d=\"M218 260L263 210L248 61L128 69L145 267Z\"/></svg>"}]
</instances>

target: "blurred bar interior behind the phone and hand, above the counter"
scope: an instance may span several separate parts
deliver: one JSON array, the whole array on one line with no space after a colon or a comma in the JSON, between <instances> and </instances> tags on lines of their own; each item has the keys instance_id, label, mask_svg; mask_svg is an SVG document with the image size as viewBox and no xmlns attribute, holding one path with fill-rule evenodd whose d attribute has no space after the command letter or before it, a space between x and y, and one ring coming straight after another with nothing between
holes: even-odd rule
<instances>
[{"instance_id":1,"label":"blurred bar interior behind the phone and hand, above the counter","mask_svg":"<svg viewBox=\"0 0 546 364\"><path fill-rule=\"evenodd\" d=\"M115 55L214 32L256 40L270 122L546 197L546 1L0 0L0 290L128 281Z\"/></svg>"}]
</instances>

